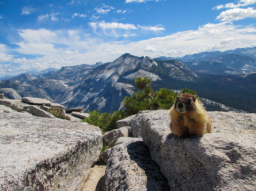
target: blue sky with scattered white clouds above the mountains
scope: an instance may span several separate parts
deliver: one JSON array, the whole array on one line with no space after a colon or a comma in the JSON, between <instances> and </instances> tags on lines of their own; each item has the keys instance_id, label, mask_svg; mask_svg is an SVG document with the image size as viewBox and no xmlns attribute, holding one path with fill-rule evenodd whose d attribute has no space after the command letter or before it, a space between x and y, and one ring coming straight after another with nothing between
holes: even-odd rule
<instances>
[{"instance_id":1,"label":"blue sky with scattered white clouds above the mountains","mask_svg":"<svg viewBox=\"0 0 256 191\"><path fill-rule=\"evenodd\" d=\"M0 77L256 46L256 0L0 0Z\"/></svg>"}]
</instances>

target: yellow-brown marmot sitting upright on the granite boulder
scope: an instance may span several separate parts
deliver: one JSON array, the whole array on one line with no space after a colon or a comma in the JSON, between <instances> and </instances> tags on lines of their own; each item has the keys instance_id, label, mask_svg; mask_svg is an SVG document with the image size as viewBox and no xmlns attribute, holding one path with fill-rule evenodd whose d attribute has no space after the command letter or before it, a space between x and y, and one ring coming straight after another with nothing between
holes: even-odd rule
<instances>
[{"instance_id":1,"label":"yellow-brown marmot sitting upright on the granite boulder","mask_svg":"<svg viewBox=\"0 0 256 191\"><path fill-rule=\"evenodd\" d=\"M197 137L212 132L212 120L195 95L179 94L169 111L170 130L179 137Z\"/></svg>"}]
</instances>

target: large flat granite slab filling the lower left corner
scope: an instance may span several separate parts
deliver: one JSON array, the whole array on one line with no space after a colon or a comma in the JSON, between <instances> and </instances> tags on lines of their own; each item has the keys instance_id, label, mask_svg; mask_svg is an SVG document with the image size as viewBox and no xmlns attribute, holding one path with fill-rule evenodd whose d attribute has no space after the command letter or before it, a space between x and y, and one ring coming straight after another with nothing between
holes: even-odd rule
<instances>
[{"instance_id":1,"label":"large flat granite slab filling the lower left corner","mask_svg":"<svg viewBox=\"0 0 256 191\"><path fill-rule=\"evenodd\" d=\"M102 149L102 132L0 105L0 190L77 190Z\"/></svg>"}]
</instances>

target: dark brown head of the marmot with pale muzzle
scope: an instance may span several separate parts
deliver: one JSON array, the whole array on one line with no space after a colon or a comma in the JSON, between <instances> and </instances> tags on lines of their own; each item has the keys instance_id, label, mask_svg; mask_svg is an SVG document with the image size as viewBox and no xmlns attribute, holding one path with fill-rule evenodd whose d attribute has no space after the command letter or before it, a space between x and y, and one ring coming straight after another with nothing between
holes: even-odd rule
<instances>
[{"instance_id":1,"label":"dark brown head of the marmot with pale muzzle","mask_svg":"<svg viewBox=\"0 0 256 191\"><path fill-rule=\"evenodd\" d=\"M195 110L195 102L196 102L197 96L192 94L179 94L177 97L174 107L177 110L177 112L185 113L185 112L191 112Z\"/></svg>"}]
</instances>

